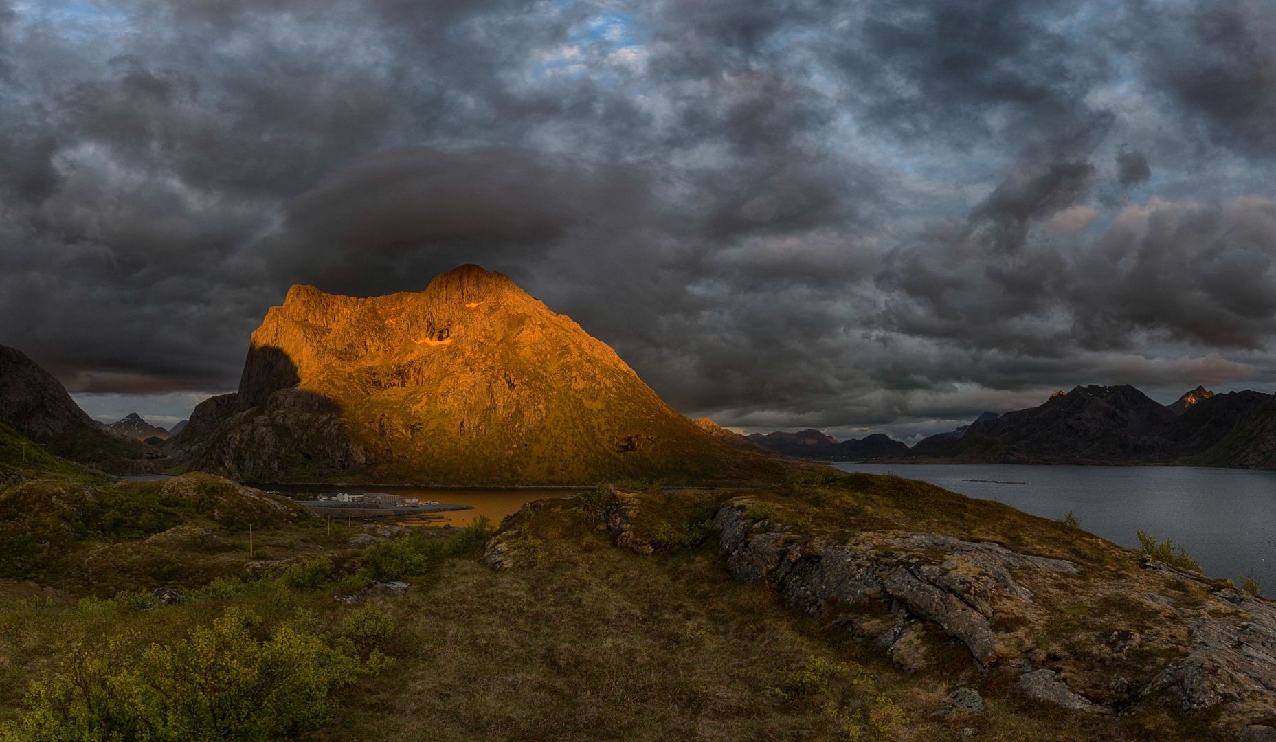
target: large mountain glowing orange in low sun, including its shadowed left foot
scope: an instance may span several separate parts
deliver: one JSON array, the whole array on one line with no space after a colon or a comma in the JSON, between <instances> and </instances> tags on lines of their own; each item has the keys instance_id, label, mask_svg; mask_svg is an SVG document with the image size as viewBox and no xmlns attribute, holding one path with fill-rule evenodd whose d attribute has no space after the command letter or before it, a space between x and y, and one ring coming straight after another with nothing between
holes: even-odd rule
<instances>
[{"instance_id":1,"label":"large mountain glowing orange in low sun, including its shadowed left foot","mask_svg":"<svg viewBox=\"0 0 1276 742\"><path fill-rule=\"evenodd\" d=\"M253 333L239 391L176 441L246 481L591 483L768 476L670 409L606 344L475 265L420 293L296 286Z\"/></svg>"}]
</instances>

